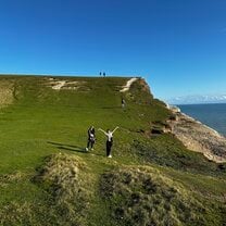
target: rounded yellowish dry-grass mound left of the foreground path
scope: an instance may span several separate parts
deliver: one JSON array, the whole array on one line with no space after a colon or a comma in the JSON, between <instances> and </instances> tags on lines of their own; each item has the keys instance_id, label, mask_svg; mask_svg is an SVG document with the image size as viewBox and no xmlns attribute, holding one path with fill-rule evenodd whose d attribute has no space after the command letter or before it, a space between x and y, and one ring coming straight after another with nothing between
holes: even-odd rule
<instances>
[{"instance_id":1,"label":"rounded yellowish dry-grass mound left of the foreground path","mask_svg":"<svg viewBox=\"0 0 226 226\"><path fill-rule=\"evenodd\" d=\"M51 208L61 216L61 225L84 225L90 197L86 185L86 168L79 158L59 153L48 156L35 177L51 194Z\"/></svg>"}]
</instances>

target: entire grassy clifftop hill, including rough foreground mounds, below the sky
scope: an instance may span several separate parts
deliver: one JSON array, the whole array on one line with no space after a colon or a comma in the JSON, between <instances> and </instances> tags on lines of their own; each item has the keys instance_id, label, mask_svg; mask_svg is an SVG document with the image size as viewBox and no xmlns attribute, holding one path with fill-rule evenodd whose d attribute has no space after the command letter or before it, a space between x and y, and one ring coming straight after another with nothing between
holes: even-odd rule
<instances>
[{"instance_id":1,"label":"entire grassy clifftop hill, including rough foreground mounds, below the sky","mask_svg":"<svg viewBox=\"0 0 226 226\"><path fill-rule=\"evenodd\" d=\"M0 77L0 225L226 225L226 164L151 134L172 112L128 79Z\"/></svg>"}]
</instances>

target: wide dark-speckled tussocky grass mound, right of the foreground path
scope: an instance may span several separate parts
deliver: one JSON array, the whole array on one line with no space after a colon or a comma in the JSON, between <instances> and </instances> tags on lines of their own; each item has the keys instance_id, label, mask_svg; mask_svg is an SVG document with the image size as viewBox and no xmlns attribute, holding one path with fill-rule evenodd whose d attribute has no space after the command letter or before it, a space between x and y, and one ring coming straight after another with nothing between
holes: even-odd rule
<instances>
[{"instance_id":1,"label":"wide dark-speckled tussocky grass mound, right of the foreground path","mask_svg":"<svg viewBox=\"0 0 226 226\"><path fill-rule=\"evenodd\" d=\"M101 178L101 194L110 201L117 225L209 225L205 208L183 187L158 171L126 167Z\"/></svg>"}]
</instances>

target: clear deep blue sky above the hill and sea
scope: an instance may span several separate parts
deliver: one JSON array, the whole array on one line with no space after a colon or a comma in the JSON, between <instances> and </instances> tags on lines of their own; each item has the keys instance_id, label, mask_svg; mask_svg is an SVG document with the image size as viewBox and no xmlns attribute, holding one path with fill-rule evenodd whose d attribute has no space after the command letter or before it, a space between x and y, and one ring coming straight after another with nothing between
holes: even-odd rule
<instances>
[{"instance_id":1,"label":"clear deep blue sky above the hill and sea","mask_svg":"<svg viewBox=\"0 0 226 226\"><path fill-rule=\"evenodd\" d=\"M226 93L226 0L0 0L0 73L140 75Z\"/></svg>"}]
</instances>

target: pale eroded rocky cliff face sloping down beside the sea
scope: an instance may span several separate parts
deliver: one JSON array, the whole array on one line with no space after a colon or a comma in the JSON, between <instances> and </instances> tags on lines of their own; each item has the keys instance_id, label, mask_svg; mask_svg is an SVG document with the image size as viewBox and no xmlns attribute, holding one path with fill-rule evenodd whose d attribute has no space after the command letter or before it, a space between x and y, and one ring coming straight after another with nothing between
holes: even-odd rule
<instances>
[{"instance_id":1,"label":"pale eroded rocky cliff face sloping down beside the sea","mask_svg":"<svg viewBox=\"0 0 226 226\"><path fill-rule=\"evenodd\" d=\"M174 134L188 149L201 152L214 162L226 162L226 138L214 129L181 113L177 108L170 108L175 115L167 123Z\"/></svg>"}]
</instances>

